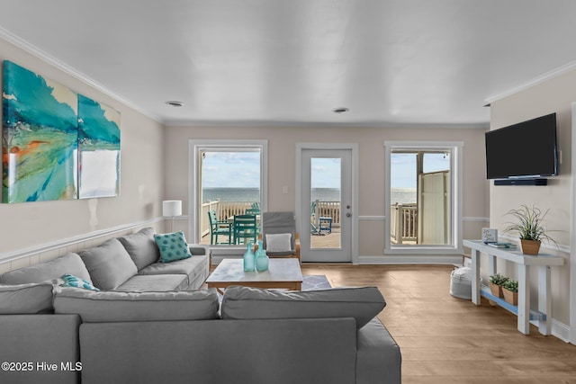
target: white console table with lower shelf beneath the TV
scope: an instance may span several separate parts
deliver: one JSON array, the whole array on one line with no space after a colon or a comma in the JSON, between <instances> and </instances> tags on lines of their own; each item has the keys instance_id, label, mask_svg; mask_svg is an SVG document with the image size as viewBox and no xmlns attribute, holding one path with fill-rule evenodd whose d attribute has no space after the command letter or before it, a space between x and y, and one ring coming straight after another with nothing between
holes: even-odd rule
<instances>
[{"instance_id":1,"label":"white console table with lower shelf beneath the TV","mask_svg":"<svg viewBox=\"0 0 576 384\"><path fill-rule=\"evenodd\" d=\"M550 335L552 299L550 298L550 267L563 265L564 259L560 256L524 255L518 250L495 248L488 246L482 240L464 240L464 246L472 249L472 301L480 305L481 295L498 303L501 307L518 315L518 331L524 335L530 333L530 320L538 320L538 330L542 335ZM480 253L488 255L488 272L496 273L496 259L508 260L516 263L518 268L518 307L510 305L503 299L491 294L490 289L480 283ZM530 310L530 271L529 268L538 268L538 310Z\"/></svg>"}]
</instances>

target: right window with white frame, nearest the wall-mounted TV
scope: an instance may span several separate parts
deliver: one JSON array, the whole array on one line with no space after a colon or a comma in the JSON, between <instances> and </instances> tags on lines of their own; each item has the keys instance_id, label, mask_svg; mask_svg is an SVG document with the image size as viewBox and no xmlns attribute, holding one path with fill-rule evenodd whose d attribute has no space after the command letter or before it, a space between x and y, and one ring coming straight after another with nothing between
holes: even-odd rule
<instances>
[{"instance_id":1,"label":"right window with white frame, nearest the wall-mounted TV","mask_svg":"<svg viewBox=\"0 0 576 384\"><path fill-rule=\"evenodd\" d=\"M462 143L385 142L385 253L460 252Z\"/></svg>"}]
</instances>

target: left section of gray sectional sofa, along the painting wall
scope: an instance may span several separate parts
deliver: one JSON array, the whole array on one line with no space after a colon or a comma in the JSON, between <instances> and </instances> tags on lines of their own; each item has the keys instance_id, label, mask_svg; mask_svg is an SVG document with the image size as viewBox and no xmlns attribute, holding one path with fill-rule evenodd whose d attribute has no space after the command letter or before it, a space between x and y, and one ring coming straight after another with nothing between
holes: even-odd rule
<instances>
[{"instance_id":1,"label":"left section of gray sectional sofa, along the painting wall","mask_svg":"<svg viewBox=\"0 0 576 384\"><path fill-rule=\"evenodd\" d=\"M58 279L69 273L100 290L197 290L210 273L210 250L191 245L193 257L160 263L154 229L112 238L100 246L60 256L0 276L0 283L25 284Z\"/></svg>"}]
</instances>

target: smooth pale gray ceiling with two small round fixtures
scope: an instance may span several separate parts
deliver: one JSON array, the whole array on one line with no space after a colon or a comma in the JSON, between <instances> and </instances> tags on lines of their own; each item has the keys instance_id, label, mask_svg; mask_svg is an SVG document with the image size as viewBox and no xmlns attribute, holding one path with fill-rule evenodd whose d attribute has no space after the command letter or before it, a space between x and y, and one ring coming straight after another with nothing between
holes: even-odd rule
<instances>
[{"instance_id":1,"label":"smooth pale gray ceiling with two small round fixtures","mask_svg":"<svg viewBox=\"0 0 576 384\"><path fill-rule=\"evenodd\" d=\"M0 37L168 125L486 126L486 103L576 60L574 0L0 0L0 9Z\"/></svg>"}]
</instances>

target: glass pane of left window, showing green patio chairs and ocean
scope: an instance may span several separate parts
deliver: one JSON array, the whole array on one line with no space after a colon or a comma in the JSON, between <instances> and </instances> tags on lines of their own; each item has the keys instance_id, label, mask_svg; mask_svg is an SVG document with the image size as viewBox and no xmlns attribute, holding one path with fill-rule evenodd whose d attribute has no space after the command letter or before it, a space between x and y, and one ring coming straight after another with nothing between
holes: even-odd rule
<instances>
[{"instance_id":1,"label":"glass pane of left window, showing green patio chairs and ocean","mask_svg":"<svg viewBox=\"0 0 576 384\"><path fill-rule=\"evenodd\" d=\"M234 216L254 214L260 218L260 151L206 150L200 152L198 210L201 244L235 245L246 241L233 236ZM209 215L213 211L215 215Z\"/></svg>"}]
</instances>

